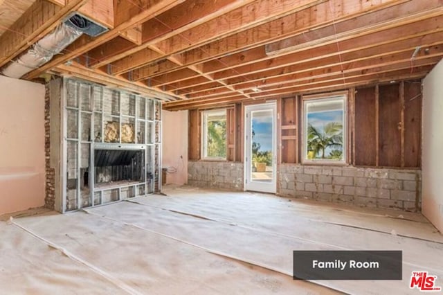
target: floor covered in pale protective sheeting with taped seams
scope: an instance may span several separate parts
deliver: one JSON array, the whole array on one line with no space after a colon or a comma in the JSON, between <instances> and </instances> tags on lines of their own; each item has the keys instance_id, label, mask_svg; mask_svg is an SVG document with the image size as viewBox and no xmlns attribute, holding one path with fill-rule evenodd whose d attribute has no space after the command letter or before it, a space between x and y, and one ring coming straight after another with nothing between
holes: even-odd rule
<instances>
[{"instance_id":1,"label":"floor covered in pale protective sheeting with taped seams","mask_svg":"<svg viewBox=\"0 0 443 295\"><path fill-rule=\"evenodd\" d=\"M417 294L411 271L443 278L443 236L416 213L163 192L0 222L0 294ZM320 249L402 250L403 280L292 280L292 251Z\"/></svg>"}]
</instances>

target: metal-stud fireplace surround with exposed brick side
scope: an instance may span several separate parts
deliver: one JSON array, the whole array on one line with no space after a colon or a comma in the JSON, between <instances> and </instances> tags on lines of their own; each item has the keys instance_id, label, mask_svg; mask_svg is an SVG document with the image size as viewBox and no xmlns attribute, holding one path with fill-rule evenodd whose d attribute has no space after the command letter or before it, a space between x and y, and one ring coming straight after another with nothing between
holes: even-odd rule
<instances>
[{"instance_id":1,"label":"metal-stud fireplace surround with exposed brick side","mask_svg":"<svg viewBox=\"0 0 443 295\"><path fill-rule=\"evenodd\" d=\"M55 171L55 177L47 175L55 192L47 197L54 198L55 210L161 189L159 100L71 78L53 80L48 88L51 167L46 169Z\"/></svg>"}]
</instances>

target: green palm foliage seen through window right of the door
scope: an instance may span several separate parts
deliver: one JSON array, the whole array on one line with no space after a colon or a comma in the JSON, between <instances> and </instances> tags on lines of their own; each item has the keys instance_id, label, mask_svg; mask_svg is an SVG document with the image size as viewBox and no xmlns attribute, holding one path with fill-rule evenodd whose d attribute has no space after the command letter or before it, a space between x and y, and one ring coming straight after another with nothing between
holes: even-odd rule
<instances>
[{"instance_id":1,"label":"green palm foliage seen through window right of the door","mask_svg":"<svg viewBox=\"0 0 443 295\"><path fill-rule=\"evenodd\" d=\"M333 150L325 155L327 148ZM311 124L307 127L307 150L314 152L315 159L341 160L343 158L343 125L338 122L327 123L323 130Z\"/></svg>"}]
</instances>

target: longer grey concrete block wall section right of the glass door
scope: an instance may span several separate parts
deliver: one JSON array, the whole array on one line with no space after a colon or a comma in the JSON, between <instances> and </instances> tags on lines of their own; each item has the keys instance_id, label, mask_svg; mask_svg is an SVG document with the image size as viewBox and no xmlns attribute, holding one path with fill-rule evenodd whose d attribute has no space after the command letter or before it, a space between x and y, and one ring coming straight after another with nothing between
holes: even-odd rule
<instances>
[{"instance_id":1,"label":"longer grey concrete block wall section right of the glass door","mask_svg":"<svg viewBox=\"0 0 443 295\"><path fill-rule=\"evenodd\" d=\"M421 170L280 165L280 195L421 211Z\"/></svg>"}]
</instances>

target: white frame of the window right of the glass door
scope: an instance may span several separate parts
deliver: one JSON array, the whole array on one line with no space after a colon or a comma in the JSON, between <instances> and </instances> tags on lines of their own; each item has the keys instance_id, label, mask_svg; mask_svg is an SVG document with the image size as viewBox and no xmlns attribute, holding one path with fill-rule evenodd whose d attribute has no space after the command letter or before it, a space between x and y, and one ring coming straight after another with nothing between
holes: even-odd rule
<instances>
[{"instance_id":1,"label":"white frame of the window right of the glass door","mask_svg":"<svg viewBox=\"0 0 443 295\"><path fill-rule=\"evenodd\" d=\"M348 138L348 129L349 129L349 120L348 120L348 100L349 100L348 91L341 91L337 93L323 93L320 95L312 95L312 96L302 96L302 128L301 128L301 163L307 165L331 165L331 166L346 166L348 165L348 155L349 155L349 138ZM343 99L343 159L341 160L332 160L332 159L308 159L307 157L307 105L309 102L318 102L318 101L332 101Z\"/></svg>"}]
</instances>

